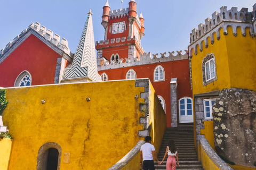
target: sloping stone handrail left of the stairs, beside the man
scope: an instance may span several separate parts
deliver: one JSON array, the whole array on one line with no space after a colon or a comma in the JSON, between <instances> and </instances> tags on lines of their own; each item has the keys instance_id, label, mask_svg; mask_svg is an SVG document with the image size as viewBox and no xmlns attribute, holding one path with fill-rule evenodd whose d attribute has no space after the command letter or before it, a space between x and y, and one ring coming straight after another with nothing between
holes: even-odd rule
<instances>
[{"instance_id":1,"label":"sloping stone handrail left of the stairs, beside the man","mask_svg":"<svg viewBox=\"0 0 256 170\"><path fill-rule=\"evenodd\" d=\"M130 162L139 152L140 147L145 143L145 141L140 140L137 145L128 154L126 154L122 159L120 159L115 165L110 167L108 170L119 170L123 168L127 163Z\"/></svg>"}]
</instances>

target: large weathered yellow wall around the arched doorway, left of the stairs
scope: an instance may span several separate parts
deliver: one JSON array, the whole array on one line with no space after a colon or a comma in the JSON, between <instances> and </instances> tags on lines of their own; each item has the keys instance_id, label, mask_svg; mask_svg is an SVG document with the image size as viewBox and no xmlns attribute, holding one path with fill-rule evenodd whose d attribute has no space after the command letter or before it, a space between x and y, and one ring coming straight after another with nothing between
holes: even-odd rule
<instances>
[{"instance_id":1,"label":"large weathered yellow wall around the arched doorway, left of the stairs","mask_svg":"<svg viewBox=\"0 0 256 170\"><path fill-rule=\"evenodd\" d=\"M149 88L151 134L159 148L166 117ZM60 169L108 169L144 139L138 137L144 99L134 98L143 91L135 80L7 89L3 122L13 138L9 169L36 169L38 150L47 142L61 147Z\"/></svg>"}]
</instances>

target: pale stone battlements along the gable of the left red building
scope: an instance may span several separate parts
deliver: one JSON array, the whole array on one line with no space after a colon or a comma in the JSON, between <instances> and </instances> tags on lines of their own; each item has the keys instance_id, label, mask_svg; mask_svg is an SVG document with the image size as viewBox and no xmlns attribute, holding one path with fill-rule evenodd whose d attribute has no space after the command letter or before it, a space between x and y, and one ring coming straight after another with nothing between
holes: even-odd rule
<instances>
[{"instance_id":1,"label":"pale stone battlements along the gable of the left red building","mask_svg":"<svg viewBox=\"0 0 256 170\"><path fill-rule=\"evenodd\" d=\"M55 33L55 35L53 36L53 31L51 31L50 29L48 29L46 31L46 27L42 26L39 22L36 22L35 24L32 23L28 26L27 29L23 30L20 35L18 35L17 37L15 37L13 39L13 41L10 41L10 43L8 43L5 48L0 50L0 57L2 55L4 55L8 49L10 49L15 43L17 43L17 41L22 38L23 35L25 35L25 33L29 32L31 29L35 30L36 32L38 32L42 37L44 37L46 40L50 41L53 45L57 46L59 49L63 50L66 54L70 55L70 49L68 47L68 41L65 38L62 38L62 40L60 41L60 36L57 35L57 33Z\"/></svg>"}]
</instances>

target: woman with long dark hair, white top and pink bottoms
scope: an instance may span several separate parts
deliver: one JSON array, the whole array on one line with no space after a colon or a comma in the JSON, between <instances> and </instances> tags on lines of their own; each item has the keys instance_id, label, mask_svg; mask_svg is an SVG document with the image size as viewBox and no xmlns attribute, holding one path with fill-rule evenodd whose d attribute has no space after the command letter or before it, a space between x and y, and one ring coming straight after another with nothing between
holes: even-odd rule
<instances>
[{"instance_id":1,"label":"woman with long dark hair, white top and pink bottoms","mask_svg":"<svg viewBox=\"0 0 256 170\"><path fill-rule=\"evenodd\" d=\"M175 147L173 140L168 141L168 146L166 147L164 158L163 158L161 164L163 164L164 159L167 154L168 154L168 158L167 158L167 162L166 162L166 170L175 170L176 169L175 157L177 157L177 166L179 166L179 159L178 159L178 150Z\"/></svg>"}]
</instances>

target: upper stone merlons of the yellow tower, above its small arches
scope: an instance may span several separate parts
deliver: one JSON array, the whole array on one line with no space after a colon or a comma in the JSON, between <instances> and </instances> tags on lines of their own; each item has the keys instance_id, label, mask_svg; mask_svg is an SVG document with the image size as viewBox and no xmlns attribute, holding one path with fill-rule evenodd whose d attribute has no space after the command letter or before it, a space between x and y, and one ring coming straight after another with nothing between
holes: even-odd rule
<instances>
[{"instance_id":1,"label":"upper stone merlons of the yellow tower, above its small arches","mask_svg":"<svg viewBox=\"0 0 256 170\"><path fill-rule=\"evenodd\" d=\"M198 39L203 37L207 32L210 32L214 28L218 27L223 21L234 23L252 23L255 20L256 4L253 5L253 11L248 12L248 8L242 8L241 11L237 11L237 7L231 7L227 10L227 6L220 7L220 12L214 12L212 18L205 19L205 24L200 23L198 29L193 29L190 33L190 44L195 43ZM232 25L230 23L230 25ZM254 31L253 31L254 32ZM227 34L227 31L224 31ZM254 35L253 35L254 36Z\"/></svg>"}]
</instances>

